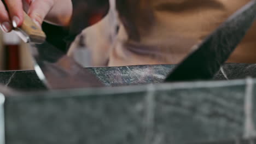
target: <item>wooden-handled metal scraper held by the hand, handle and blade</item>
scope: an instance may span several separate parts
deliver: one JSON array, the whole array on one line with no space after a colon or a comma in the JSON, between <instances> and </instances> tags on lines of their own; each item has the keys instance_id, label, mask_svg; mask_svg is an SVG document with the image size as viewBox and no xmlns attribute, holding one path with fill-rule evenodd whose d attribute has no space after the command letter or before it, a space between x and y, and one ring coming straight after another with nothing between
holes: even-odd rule
<instances>
[{"instance_id":1,"label":"wooden-handled metal scraper held by the hand, handle and blade","mask_svg":"<svg viewBox=\"0 0 256 144\"><path fill-rule=\"evenodd\" d=\"M24 15L24 23L14 31L25 43L30 43L34 69L49 89L104 86L94 74L75 62L72 57L47 43L41 28L26 13Z\"/></svg>"}]
</instances>

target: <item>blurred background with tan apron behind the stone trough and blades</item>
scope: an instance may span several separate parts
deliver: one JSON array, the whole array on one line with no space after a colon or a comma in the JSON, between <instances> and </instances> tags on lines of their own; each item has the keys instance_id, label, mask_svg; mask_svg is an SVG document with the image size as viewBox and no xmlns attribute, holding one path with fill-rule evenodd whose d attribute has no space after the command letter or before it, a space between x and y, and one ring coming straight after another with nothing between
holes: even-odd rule
<instances>
[{"instance_id":1,"label":"blurred background with tan apron behind the stone trough and blades","mask_svg":"<svg viewBox=\"0 0 256 144\"><path fill-rule=\"evenodd\" d=\"M223 1L217 4L218 7L198 1L196 8L190 1L184 1L184 5L188 5L185 8L183 4L168 1L168 4L180 9L179 13L166 8L164 1L148 3L147 0L131 0L126 3L109 0L110 6L101 1L90 1L94 5L90 5L90 9L85 9L88 5L81 2L81 5L78 4L81 8L75 9L74 21L70 26L77 37L74 40L72 38L69 47L63 43L70 37L65 37L66 32L63 32L62 27L45 22L44 32L56 48L66 52L83 67L117 67L182 62L201 41L249 0L237 0L234 4ZM100 21L91 22L95 20ZM85 28L84 25L89 27ZM256 63L255 37L256 22L232 53L228 63ZM0 70L30 70L33 69L32 65L28 45L15 33L0 32Z\"/></svg>"}]
</instances>

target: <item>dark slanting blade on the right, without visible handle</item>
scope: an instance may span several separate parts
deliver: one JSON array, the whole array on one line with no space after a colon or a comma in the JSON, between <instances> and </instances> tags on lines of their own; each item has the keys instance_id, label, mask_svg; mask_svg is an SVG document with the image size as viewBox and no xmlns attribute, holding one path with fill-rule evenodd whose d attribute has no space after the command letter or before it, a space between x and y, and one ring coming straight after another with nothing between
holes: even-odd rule
<instances>
[{"instance_id":1,"label":"dark slanting blade on the right, without visible handle","mask_svg":"<svg viewBox=\"0 0 256 144\"><path fill-rule=\"evenodd\" d=\"M167 82L212 79L252 26L256 1L252 0L203 41L166 78Z\"/></svg>"}]
</instances>

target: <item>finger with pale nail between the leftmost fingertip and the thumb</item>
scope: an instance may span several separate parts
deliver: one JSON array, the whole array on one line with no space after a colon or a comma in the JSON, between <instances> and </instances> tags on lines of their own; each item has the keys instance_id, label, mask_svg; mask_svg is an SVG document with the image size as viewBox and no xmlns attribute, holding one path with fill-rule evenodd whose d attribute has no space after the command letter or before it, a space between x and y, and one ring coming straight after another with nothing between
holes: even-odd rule
<instances>
[{"instance_id":1,"label":"finger with pale nail between the leftmost fingertip and the thumb","mask_svg":"<svg viewBox=\"0 0 256 144\"><path fill-rule=\"evenodd\" d=\"M14 27L21 26L24 15L21 0L5 0L9 11L9 19Z\"/></svg>"}]
</instances>

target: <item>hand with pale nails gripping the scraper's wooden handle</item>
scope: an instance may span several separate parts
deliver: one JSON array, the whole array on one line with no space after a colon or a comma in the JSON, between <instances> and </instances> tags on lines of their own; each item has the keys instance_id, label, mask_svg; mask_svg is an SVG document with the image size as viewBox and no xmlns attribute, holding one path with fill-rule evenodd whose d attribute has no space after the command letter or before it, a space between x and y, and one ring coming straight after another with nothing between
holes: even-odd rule
<instances>
[{"instance_id":1,"label":"hand with pale nails gripping the scraper's wooden handle","mask_svg":"<svg viewBox=\"0 0 256 144\"><path fill-rule=\"evenodd\" d=\"M55 25L68 26L72 16L72 2L71 0L2 0L0 2L2 30L10 32L13 27L20 27L24 21L24 10L38 26L41 26L44 20Z\"/></svg>"}]
</instances>

